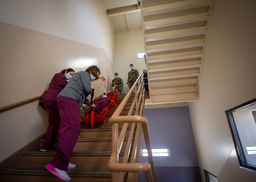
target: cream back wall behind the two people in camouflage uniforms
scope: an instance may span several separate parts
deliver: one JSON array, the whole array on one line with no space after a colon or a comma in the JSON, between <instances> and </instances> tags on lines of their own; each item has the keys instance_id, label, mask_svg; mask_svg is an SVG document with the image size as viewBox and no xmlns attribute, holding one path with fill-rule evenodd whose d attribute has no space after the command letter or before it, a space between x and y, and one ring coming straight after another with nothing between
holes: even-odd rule
<instances>
[{"instance_id":1,"label":"cream back wall behind the two people in camouflage uniforms","mask_svg":"<svg viewBox=\"0 0 256 182\"><path fill-rule=\"evenodd\" d=\"M143 58L136 58L136 54L144 52L142 29L115 35L115 70L112 73L112 79L114 79L114 73L118 73L119 77L124 81L125 94L129 91L129 87L126 85L128 72L131 71L129 64L134 64L134 69L137 69L139 74L141 74L144 69L147 69L145 60ZM112 89L114 90L114 87Z\"/></svg>"}]
</instances>

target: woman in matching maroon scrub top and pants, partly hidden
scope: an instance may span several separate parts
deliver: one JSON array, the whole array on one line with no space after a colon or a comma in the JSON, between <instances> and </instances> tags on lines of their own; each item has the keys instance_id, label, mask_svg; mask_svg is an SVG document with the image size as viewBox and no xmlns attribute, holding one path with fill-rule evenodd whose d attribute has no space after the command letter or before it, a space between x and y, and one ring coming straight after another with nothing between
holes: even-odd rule
<instances>
[{"instance_id":1,"label":"woman in matching maroon scrub top and pants, partly hidden","mask_svg":"<svg viewBox=\"0 0 256 182\"><path fill-rule=\"evenodd\" d=\"M60 91L67 85L68 81L75 71L71 68L56 73L51 79L48 90L46 90L41 98L39 105L47 111L49 117L49 126L45 134L45 142L42 144L40 151L56 151L53 148L55 139L58 138L60 127L60 116L57 110L56 99Z\"/></svg>"}]
</instances>

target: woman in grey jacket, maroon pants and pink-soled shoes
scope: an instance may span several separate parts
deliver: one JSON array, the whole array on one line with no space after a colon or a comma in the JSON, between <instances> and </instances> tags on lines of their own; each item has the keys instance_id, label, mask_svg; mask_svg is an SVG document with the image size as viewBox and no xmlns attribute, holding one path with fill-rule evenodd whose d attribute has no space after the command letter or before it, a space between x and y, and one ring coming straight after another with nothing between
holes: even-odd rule
<instances>
[{"instance_id":1,"label":"woman in grey jacket, maroon pants and pink-soled shoes","mask_svg":"<svg viewBox=\"0 0 256 182\"><path fill-rule=\"evenodd\" d=\"M70 181L67 170L76 167L69 162L69 157L81 131L80 108L83 104L95 107L85 99L92 93L91 80L97 79L99 74L100 69L97 66L90 66L85 71L77 72L57 97L57 108L61 118L57 153L45 167L62 180Z\"/></svg>"}]
</instances>

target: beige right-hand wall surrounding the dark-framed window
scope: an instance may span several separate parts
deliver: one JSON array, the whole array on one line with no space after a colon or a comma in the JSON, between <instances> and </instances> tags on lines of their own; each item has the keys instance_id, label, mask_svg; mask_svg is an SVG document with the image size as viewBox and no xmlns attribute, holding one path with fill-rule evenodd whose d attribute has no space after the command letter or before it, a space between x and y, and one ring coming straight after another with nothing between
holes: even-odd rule
<instances>
[{"instance_id":1,"label":"beige right-hand wall surrounding the dark-framed window","mask_svg":"<svg viewBox=\"0 0 256 182\"><path fill-rule=\"evenodd\" d=\"M218 182L255 181L239 168L225 111L256 97L255 1L215 0L199 100L189 105L199 166Z\"/></svg>"}]
</instances>

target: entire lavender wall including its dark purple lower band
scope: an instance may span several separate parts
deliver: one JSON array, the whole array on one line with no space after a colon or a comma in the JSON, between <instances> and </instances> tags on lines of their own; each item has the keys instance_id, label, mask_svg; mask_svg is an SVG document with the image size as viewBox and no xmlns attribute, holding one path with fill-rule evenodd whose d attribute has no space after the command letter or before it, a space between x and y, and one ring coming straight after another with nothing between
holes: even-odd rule
<instances>
[{"instance_id":1,"label":"entire lavender wall including its dark purple lower band","mask_svg":"<svg viewBox=\"0 0 256 182\"><path fill-rule=\"evenodd\" d=\"M145 109L153 149L169 148L170 157L154 157L157 180L201 181L188 107ZM144 137L141 148L145 149ZM140 157L140 162L148 162ZM146 181L140 173L138 181Z\"/></svg>"}]
</instances>

